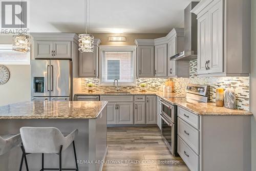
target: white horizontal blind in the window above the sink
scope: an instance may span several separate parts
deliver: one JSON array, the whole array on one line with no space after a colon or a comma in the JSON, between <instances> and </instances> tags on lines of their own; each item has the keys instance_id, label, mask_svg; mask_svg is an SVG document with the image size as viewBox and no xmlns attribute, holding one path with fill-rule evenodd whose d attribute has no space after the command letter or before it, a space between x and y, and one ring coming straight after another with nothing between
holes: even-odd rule
<instances>
[{"instance_id":1,"label":"white horizontal blind in the window above the sink","mask_svg":"<svg viewBox=\"0 0 256 171\"><path fill-rule=\"evenodd\" d=\"M102 52L102 82L134 82L133 51L103 51Z\"/></svg>"}]
</instances>

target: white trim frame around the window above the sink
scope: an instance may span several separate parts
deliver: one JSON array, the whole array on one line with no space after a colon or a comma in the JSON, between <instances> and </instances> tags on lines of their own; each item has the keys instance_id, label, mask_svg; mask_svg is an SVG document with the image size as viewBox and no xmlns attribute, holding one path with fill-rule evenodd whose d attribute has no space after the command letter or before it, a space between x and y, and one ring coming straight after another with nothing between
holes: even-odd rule
<instances>
[{"instance_id":1,"label":"white trim frame around the window above the sink","mask_svg":"<svg viewBox=\"0 0 256 171\"><path fill-rule=\"evenodd\" d=\"M103 51L129 51L133 52L134 61L134 81L133 82L118 82L118 86L136 86L136 69L137 69L137 49L136 46L99 46L99 86L114 86L112 82L102 82L102 57Z\"/></svg>"}]
</instances>

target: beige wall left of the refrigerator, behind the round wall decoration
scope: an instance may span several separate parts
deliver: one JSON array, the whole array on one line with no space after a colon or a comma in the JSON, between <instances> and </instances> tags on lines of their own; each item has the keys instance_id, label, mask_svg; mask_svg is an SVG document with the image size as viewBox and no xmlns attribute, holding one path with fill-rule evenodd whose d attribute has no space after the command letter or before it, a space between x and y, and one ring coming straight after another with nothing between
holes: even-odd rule
<instances>
[{"instance_id":1,"label":"beige wall left of the refrigerator, behind the round wall decoration","mask_svg":"<svg viewBox=\"0 0 256 171\"><path fill-rule=\"evenodd\" d=\"M12 36L0 36L0 44L11 44ZM7 83L0 85L0 105L30 100L30 65L5 65L10 72Z\"/></svg>"}]
</instances>

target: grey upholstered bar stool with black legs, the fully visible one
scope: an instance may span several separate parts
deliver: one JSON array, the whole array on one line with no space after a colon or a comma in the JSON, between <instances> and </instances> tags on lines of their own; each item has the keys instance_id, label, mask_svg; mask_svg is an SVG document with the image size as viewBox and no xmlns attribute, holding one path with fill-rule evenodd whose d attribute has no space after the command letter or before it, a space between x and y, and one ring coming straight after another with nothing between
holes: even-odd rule
<instances>
[{"instance_id":1,"label":"grey upholstered bar stool with black legs, the fully visible one","mask_svg":"<svg viewBox=\"0 0 256 171\"><path fill-rule=\"evenodd\" d=\"M33 153L42 154L42 170L76 170L78 171L75 137L78 134L78 130L64 136L56 127L22 127L20 129L20 135L22 137L22 161L20 162L19 171L22 170L23 158L26 155ZM75 156L76 168L62 168L61 167L61 152L65 151L70 144L73 143L73 150ZM59 168L44 168L44 154L57 154L59 155ZM27 167L27 164L26 164ZM28 167L27 167L28 171Z\"/></svg>"}]
</instances>

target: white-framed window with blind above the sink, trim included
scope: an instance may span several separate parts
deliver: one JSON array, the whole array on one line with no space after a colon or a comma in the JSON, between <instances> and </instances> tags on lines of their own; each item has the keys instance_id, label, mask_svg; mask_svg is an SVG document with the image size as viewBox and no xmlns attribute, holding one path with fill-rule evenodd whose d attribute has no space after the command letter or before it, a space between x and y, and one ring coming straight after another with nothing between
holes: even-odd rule
<instances>
[{"instance_id":1,"label":"white-framed window with blind above the sink, trim included","mask_svg":"<svg viewBox=\"0 0 256 171\"><path fill-rule=\"evenodd\" d=\"M113 85L115 79L119 85L135 85L134 46L100 46L100 84Z\"/></svg>"}]
</instances>

